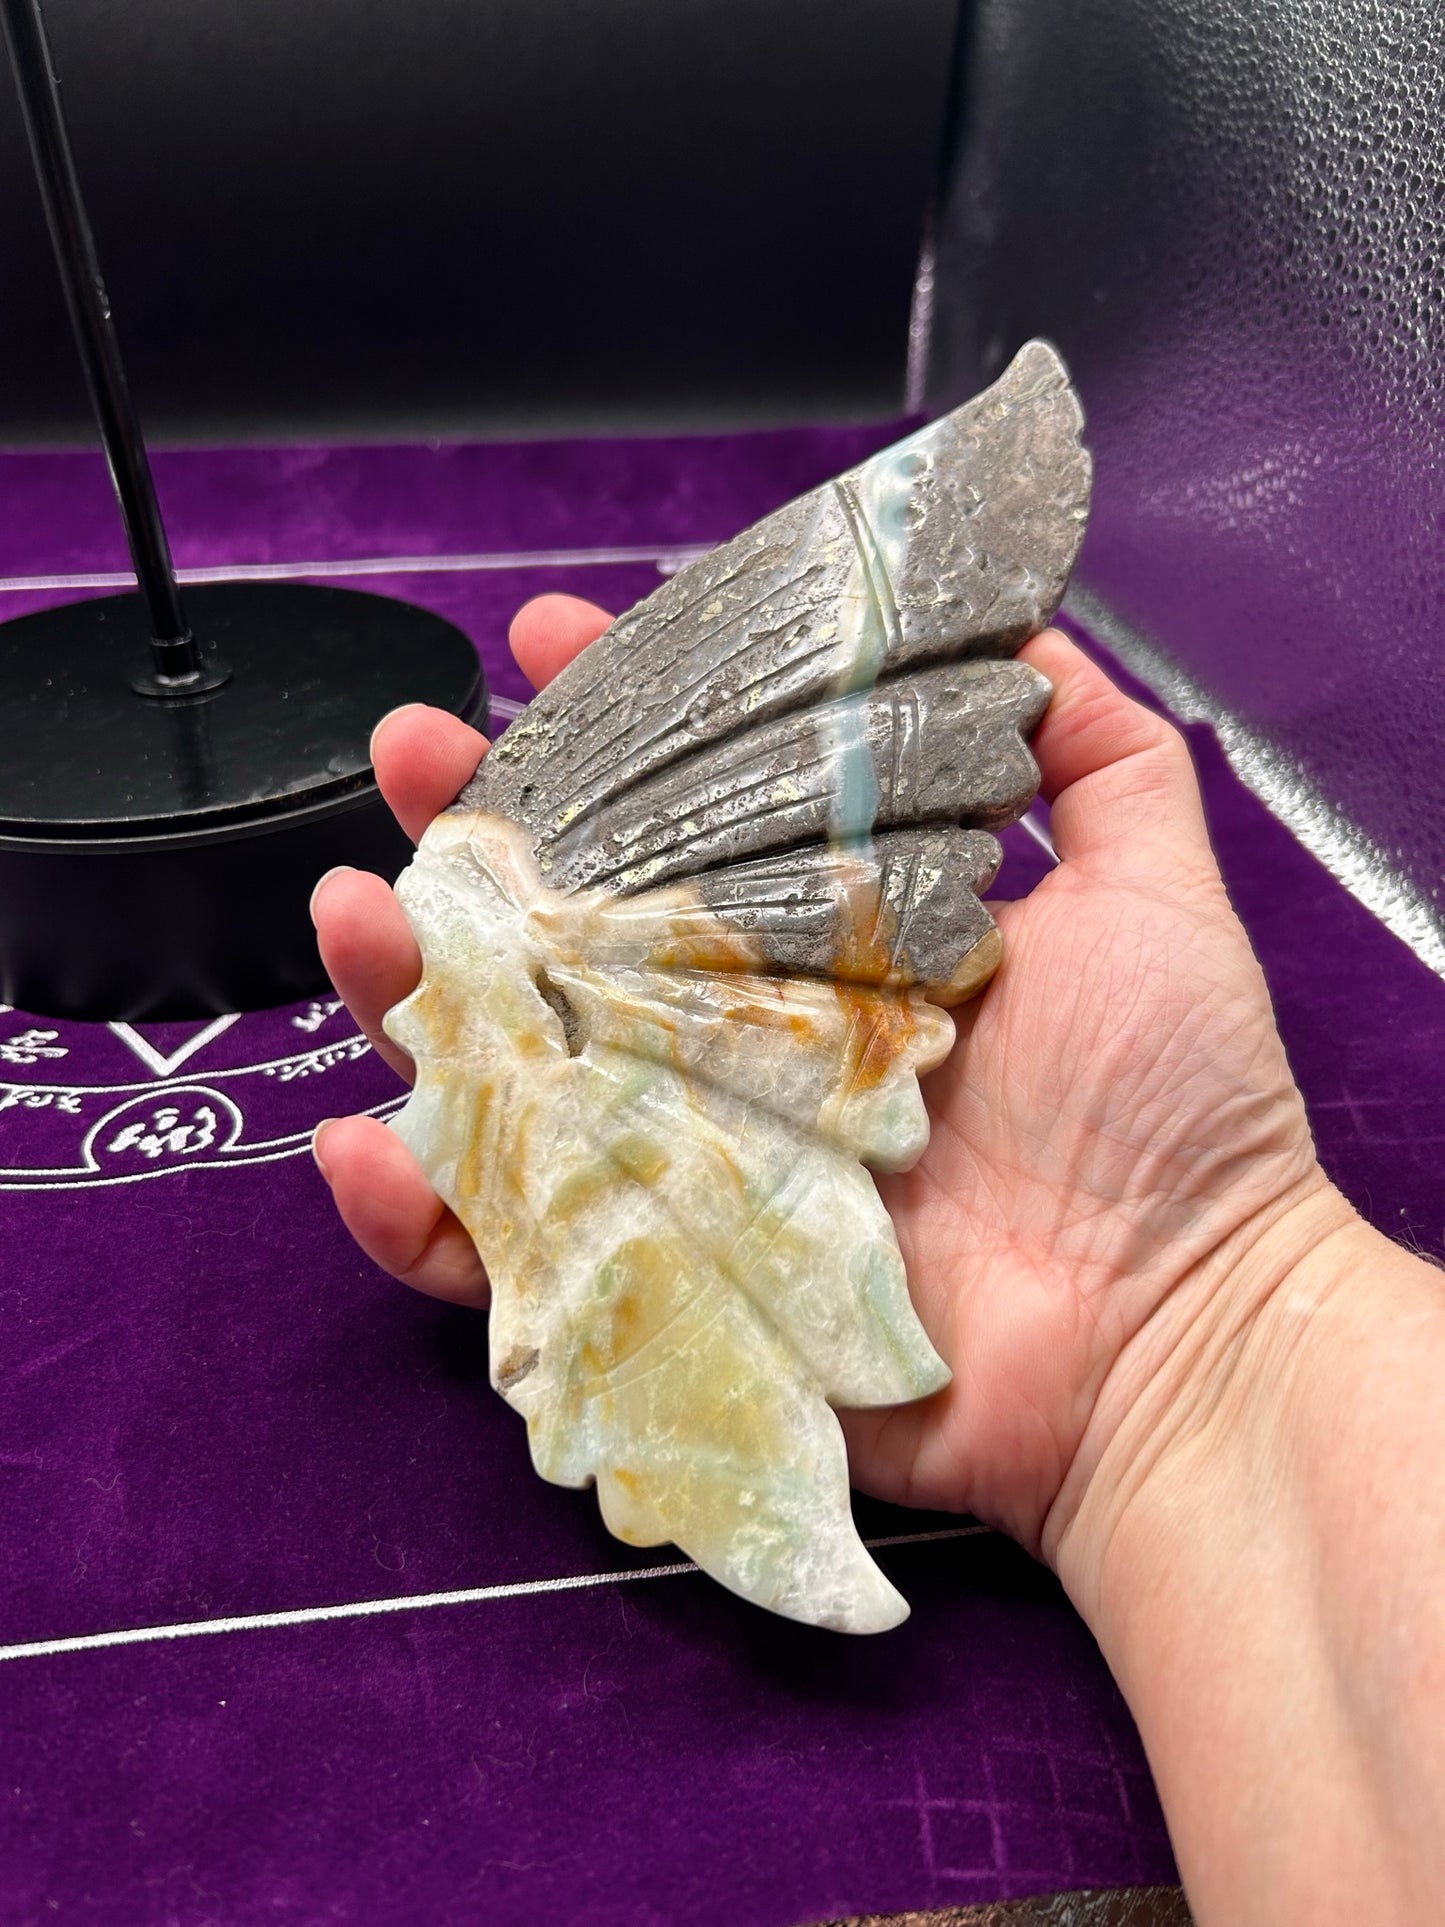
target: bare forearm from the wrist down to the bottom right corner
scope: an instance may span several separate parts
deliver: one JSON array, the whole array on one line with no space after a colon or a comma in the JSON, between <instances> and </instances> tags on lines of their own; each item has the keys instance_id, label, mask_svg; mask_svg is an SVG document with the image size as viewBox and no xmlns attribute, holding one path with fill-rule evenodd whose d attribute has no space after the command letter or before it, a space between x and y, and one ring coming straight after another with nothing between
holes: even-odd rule
<instances>
[{"instance_id":1,"label":"bare forearm from the wrist down to the bottom right corner","mask_svg":"<svg viewBox=\"0 0 1445 1927\"><path fill-rule=\"evenodd\" d=\"M1445 1276L1333 1204L1200 1283L1060 1545L1200 1927L1445 1892Z\"/></svg>"}]
</instances>

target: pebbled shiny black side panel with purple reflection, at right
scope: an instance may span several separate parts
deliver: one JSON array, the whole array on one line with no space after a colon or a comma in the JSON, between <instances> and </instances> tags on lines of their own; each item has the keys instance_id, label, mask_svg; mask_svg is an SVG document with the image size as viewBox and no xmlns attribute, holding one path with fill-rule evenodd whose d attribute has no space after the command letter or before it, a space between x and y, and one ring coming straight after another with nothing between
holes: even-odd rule
<instances>
[{"instance_id":1,"label":"pebbled shiny black side panel with purple reflection, at right","mask_svg":"<svg viewBox=\"0 0 1445 1927\"><path fill-rule=\"evenodd\" d=\"M942 405L1065 353L1081 578L1445 906L1445 10L983 0Z\"/></svg>"}]
</instances>

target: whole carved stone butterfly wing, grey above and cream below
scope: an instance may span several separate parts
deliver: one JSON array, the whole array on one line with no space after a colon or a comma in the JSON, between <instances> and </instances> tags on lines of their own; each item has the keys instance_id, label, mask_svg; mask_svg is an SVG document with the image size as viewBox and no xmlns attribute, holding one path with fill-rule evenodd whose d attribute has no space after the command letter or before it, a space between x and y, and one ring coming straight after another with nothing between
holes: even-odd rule
<instances>
[{"instance_id":1,"label":"whole carved stone butterfly wing, grey above and cream below","mask_svg":"<svg viewBox=\"0 0 1445 1927\"><path fill-rule=\"evenodd\" d=\"M1000 940L1046 680L1013 661L1083 538L1089 457L1031 341L975 401L620 617L482 761L397 884L424 977L395 1122L491 1276L493 1382L543 1478L595 1482L776 1613L907 1605L832 1407L948 1382L869 1170Z\"/></svg>"}]
</instances>

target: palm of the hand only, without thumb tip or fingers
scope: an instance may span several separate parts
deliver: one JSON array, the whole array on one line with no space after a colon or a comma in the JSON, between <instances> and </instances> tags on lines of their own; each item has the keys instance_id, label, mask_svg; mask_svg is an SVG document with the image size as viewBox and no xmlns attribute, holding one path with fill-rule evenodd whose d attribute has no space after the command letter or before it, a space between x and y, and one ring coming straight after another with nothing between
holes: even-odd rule
<instances>
[{"instance_id":1,"label":"palm of the hand only, without thumb tip or fingers","mask_svg":"<svg viewBox=\"0 0 1445 1927\"><path fill-rule=\"evenodd\" d=\"M929 1148L880 1181L954 1384L846 1424L859 1484L1037 1549L1129 1341L1312 1148L1218 877L1164 896L1065 861L998 921Z\"/></svg>"}]
</instances>

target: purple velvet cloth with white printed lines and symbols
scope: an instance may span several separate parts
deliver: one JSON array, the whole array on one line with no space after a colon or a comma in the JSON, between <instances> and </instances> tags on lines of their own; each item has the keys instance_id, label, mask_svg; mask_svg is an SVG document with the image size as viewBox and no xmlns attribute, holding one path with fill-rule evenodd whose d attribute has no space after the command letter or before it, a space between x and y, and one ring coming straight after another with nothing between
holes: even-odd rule
<instances>
[{"instance_id":1,"label":"purple velvet cloth with white printed lines and symbols","mask_svg":"<svg viewBox=\"0 0 1445 1927\"><path fill-rule=\"evenodd\" d=\"M501 638L524 595L624 605L657 555L880 439L158 472L183 567L430 559L356 580L462 622L520 698ZM123 567L98 461L0 457L0 609ZM574 559L476 561L539 551ZM1445 987L1196 750L1322 1150L1439 1249ZM1023 831L1008 848L1021 892L1046 858ZM1119 1694L1004 1540L859 1503L869 1536L923 1538L879 1553L911 1621L844 1640L655 1572L670 1551L624 1549L591 1493L536 1480L484 1318L368 1264L306 1156L318 1118L399 1096L343 1010L139 1031L8 1012L0 1079L0 1919L790 1927L1171 1877ZM630 1571L653 1576L607 1578ZM13 1653L474 1588L516 1590Z\"/></svg>"}]
</instances>

